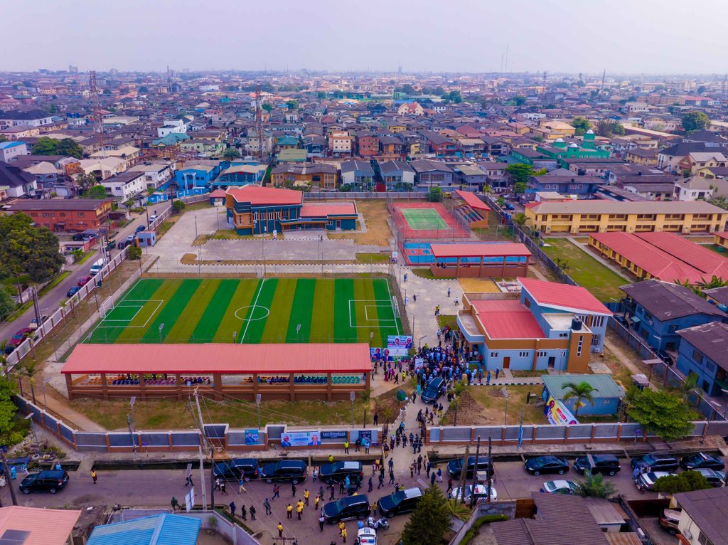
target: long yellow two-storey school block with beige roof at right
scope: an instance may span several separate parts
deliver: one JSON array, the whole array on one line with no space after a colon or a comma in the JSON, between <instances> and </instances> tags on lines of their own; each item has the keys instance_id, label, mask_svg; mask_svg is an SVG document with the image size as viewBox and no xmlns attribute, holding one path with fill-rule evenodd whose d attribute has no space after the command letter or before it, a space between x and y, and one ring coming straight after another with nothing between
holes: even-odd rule
<instances>
[{"instance_id":1,"label":"long yellow two-storey school block with beige roof at right","mask_svg":"<svg viewBox=\"0 0 728 545\"><path fill-rule=\"evenodd\" d=\"M529 203L526 224L539 232L719 232L728 211L693 201L566 200Z\"/></svg>"}]
</instances>

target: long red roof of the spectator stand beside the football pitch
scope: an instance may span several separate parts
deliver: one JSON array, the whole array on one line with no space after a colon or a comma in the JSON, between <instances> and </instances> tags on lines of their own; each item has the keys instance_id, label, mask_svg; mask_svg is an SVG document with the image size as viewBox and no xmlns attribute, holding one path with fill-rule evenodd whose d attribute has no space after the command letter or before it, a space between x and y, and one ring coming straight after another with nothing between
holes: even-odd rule
<instances>
[{"instance_id":1,"label":"long red roof of the spectator stand beside the football pitch","mask_svg":"<svg viewBox=\"0 0 728 545\"><path fill-rule=\"evenodd\" d=\"M62 373L352 373L371 371L369 345L76 345Z\"/></svg>"}]
</instances>

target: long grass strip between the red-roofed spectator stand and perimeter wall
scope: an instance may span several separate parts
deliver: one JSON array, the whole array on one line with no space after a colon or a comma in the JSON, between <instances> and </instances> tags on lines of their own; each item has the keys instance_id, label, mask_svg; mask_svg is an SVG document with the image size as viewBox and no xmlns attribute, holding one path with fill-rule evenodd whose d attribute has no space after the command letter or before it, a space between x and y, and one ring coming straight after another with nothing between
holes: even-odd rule
<instances>
[{"instance_id":1,"label":"long grass strip between the red-roofed spectator stand and perimeter wall","mask_svg":"<svg viewBox=\"0 0 728 545\"><path fill-rule=\"evenodd\" d=\"M397 415L396 391L392 400L387 394L376 399L357 396L354 402L355 423L364 421L367 409L368 424L371 425L373 411L379 412L380 423ZM200 399L202 417L207 423L234 423L236 427L257 428L256 404L250 401L213 401ZM77 399L69 403L72 409L97 422L108 430L127 429L129 401L123 399ZM196 429L197 407L193 401L137 401L134 405L134 420L138 429L178 430ZM261 403L261 426L272 423L288 423L293 426L326 425L337 426L352 423L351 401L263 401Z\"/></svg>"}]
</instances>

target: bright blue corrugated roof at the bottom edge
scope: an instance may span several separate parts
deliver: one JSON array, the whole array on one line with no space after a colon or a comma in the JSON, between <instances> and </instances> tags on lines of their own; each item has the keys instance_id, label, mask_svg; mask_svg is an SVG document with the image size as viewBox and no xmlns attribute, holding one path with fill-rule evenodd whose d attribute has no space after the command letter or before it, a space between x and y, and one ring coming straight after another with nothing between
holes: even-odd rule
<instances>
[{"instance_id":1,"label":"bright blue corrugated roof at the bottom edge","mask_svg":"<svg viewBox=\"0 0 728 545\"><path fill-rule=\"evenodd\" d=\"M97 526L86 545L195 545L202 521L178 514Z\"/></svg>"}]
</instances>

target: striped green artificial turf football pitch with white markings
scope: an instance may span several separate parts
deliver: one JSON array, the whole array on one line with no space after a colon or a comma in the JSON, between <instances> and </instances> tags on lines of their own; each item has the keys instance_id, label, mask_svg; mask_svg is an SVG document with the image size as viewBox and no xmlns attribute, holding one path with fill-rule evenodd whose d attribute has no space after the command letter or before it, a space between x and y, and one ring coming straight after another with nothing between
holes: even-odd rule
<instances>
[{"instance_id":1,"label":"striped green artificial turf football pitch with white markings","mask_svg":"<svg viewBox=\"0 0 728 545\"><path fill-rule=\"evenodd\" d=\"M144 278L86 342L370 342L402 334L380 278Z\"/></svg>"}]
</instances>

